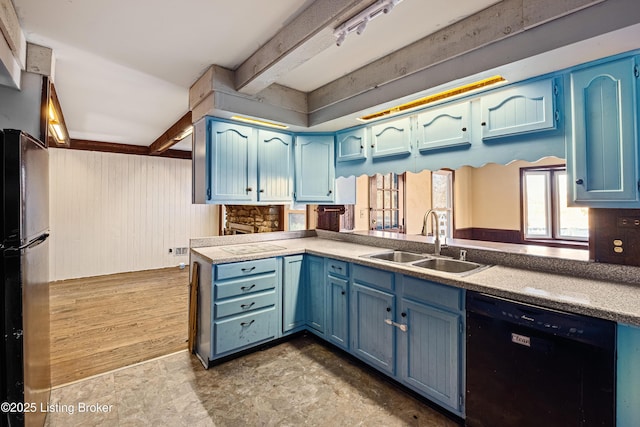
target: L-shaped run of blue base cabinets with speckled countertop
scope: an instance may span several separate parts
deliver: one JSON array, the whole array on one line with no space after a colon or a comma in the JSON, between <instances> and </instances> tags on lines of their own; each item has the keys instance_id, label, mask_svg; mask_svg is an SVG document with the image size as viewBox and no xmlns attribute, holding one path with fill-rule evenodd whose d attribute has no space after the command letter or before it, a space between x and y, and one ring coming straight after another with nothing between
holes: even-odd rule
<instances>
[{"instance_id":1,"label":"L-shaped run of blue base cabinets with speckled countertop","mask_svg":"<svg viewBox=\"0 0 640 427\"><path fill-rule=\"evenodd\" d=\"M214 365L239 351L308 330L464 417L464 294L481 292L616 322L618 372L624 372L617 381L618 425L637 415L634 402L640 371L633 363L640 355L637 267L589 262L580 250L520 245L498 250L493 244L479 248L478 242L458 246L465 243L458 241L451 242L455 245L444 249L443 255L458 258L464 249L468 260L489 267L470 275L450 274L366 257L385 250L433 253L433 245L424 236L398 239L375 234L316 230L193 239L191 261L201 264L200 359L206 366ZM251 251L265 244L265 250ZM249 251L240 253L242 247ZM547 256L541 254L545 251ZM244 272L250 278L238 278ZM233 286L237 293L224 294ZM245 301L244 290L256 291L254 297L260 298ZM402 315L414 300L447 320L444 331L451 333L448 358L446 366L436 367L446 373L444 385L416 381L407 368L411 353L402 333L406 332ZM229 311L230 301L243 308ZM375 318L367 311L372 307L386 310L384 325L368 327ZM239 335L225 335L230 320L241 324ZM254 326L259 326L254 335L245 330ZM383 335L375 335L378 332ZM388 346L384 334L392 334ZM228 344L227 339L236 341Z\"/></svg>"}]
</instances>

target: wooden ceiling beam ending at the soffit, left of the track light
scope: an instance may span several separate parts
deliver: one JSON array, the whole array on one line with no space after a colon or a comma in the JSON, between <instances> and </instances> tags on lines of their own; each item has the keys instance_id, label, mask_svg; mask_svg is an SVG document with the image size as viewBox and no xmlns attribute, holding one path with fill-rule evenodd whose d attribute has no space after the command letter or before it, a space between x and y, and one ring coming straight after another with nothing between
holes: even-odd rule
<instances>
[{"instance_id":1,"label":"wooden ceiling beam ending at the soffit, left of the track light","mask_svg":"<svg viewBox=\"0 0 640 427\"><path fill-rule=\"evenodd\" d=\"M235 89L255 95L290 70L335 44L337 24L373 4L373 0L316 0L235 72Z\"/></svg>"}]
</instances>

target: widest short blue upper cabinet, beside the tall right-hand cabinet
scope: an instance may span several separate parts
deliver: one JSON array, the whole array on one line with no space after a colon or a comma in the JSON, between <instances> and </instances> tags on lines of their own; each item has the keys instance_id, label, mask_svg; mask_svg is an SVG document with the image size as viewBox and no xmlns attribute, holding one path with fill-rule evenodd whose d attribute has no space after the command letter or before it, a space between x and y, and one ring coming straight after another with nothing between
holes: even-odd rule
<instances>
[{"instance_id":1,"label":"widest short blue upper cabinet, beside the tall right-hand cabinet","mask_svg":"<svg viewBox=\"0 0 640 427\"><path fill-rule=\"evenodd\" d=\"M482 139L556 128L554 79L519 84L481 98Z\"/></svg>"}]
</instances>

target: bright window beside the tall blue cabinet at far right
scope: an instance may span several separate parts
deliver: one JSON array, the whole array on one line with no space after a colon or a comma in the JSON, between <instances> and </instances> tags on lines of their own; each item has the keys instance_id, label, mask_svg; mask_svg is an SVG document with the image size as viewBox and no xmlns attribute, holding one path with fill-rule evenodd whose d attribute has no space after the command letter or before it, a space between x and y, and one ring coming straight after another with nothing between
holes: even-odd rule
<instances>
[{"instance_id":1,"label":"bright window beside the tall blue cabinet at far right","mask_svg":"<svg viewBox=\"0 0 640 427\"><path fill-rule=\"evenodd\" d=\"M525 240L589 239L589 210L567 207L564 166L520 169Z\"/></svg>"}]
</instances>

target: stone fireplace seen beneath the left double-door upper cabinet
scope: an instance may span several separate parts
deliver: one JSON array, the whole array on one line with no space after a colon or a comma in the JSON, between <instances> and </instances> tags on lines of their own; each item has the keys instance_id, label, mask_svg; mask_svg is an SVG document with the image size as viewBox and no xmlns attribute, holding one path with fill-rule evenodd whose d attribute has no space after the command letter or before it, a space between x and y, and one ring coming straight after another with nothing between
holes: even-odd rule
<instances>
[{"instance_id":1,"label":"stone fireplace seen beneath the left double-door upper cabinet","mask_svg":"<svg viewBox=\"0 0 640 427\"><path fill-rule=\"evenodd\" d=\"M283 230L282 206L225 205L224 234L268 233Z\"/></svg>"}]
</instances>

